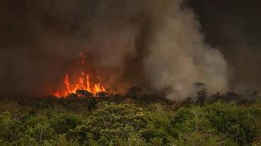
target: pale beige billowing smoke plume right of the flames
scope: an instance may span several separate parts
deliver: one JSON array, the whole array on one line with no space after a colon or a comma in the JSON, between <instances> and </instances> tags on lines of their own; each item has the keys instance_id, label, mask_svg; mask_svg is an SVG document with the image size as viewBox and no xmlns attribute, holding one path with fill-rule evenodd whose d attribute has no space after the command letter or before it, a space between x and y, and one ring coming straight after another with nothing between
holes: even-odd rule
<instances>
[{"instance_id":1,"label":"pale beige billowing smoke plume right of the flames","mask_svg":"<svg viewBox=\"0 0 261 146\"><path fill-rule=\"evenodd\" d=\"M200 24L189 8L175 1L154 32L145 72L157 90L170 87L167 97L182 100L195 95L194 83L207 84L210 93L228 90L226 60L204 42Z\"/></svg>"}]
</instances>

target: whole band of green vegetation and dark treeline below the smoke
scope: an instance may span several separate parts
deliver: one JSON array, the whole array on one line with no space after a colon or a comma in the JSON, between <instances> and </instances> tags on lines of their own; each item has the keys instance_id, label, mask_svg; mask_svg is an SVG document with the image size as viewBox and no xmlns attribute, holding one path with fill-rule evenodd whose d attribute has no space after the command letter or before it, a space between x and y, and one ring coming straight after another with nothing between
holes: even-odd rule
<instances>
[{"instance_id":1,"label":"whole band of green vegetation and dark treeline below the smoke","mask_svg":"<svg viewBox=\"0 0 261 146\"><path fill-rule=\"evenodd\" d=\"M260 146L260 98L224 102L231 95L239 97L208 100L201 91L171 102L132 88L126 95L0 98L0 145Z\"/></svg>"}]
</instances>

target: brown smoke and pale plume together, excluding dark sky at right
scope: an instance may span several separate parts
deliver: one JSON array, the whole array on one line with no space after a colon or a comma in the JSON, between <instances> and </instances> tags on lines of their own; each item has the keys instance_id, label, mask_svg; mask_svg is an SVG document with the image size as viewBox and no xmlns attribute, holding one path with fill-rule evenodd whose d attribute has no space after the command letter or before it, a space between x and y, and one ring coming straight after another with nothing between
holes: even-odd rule
<instances>
[{"instance_id":1,"label":"brown smoke and pale plume together, excluding dark sky at right","mask_svg":"<svg viewBox=\"0 0 261 146\"><path fill-rule=\"evenodd\" d=\"M210 93L228 88L226 61L205 44L195 14L182 0L3 3L5 94L53 92L65 73L78 70L78 53L85 54L85 69L111 88L171 88L171 100L194 95L195 82L205 83Z\"/></svg>"}]
</instances>

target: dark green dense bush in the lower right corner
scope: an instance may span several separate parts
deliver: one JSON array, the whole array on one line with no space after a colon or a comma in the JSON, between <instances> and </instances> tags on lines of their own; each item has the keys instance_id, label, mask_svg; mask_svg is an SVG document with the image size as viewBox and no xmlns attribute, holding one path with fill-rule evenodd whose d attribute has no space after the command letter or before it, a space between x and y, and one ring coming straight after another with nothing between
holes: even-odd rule
<instances>
[{"instance_id":1,"label":"dark green dense bush in the lower right corner","mask_svg":"<svg viewBox=\"0 0 261 146\"><path fill-rule=\"evenodd\" d=\"M260 131L257 119L261 109L255 107L239 107L235 103L223 104L215 102L205 107L207 119L220 133L242 145L249 145Z\"/></svg>"}]
</instances>

